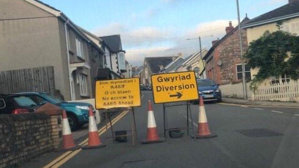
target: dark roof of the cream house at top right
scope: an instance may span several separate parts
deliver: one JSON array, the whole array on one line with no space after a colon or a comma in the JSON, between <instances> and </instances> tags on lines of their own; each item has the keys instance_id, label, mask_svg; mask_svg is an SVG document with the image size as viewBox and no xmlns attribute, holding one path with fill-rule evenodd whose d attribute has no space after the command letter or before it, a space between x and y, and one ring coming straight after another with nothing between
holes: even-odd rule
<instances>
[{"instance_id":1,"label":"dark roof of the cream house at top right","mask_svg":"<svg viewBox=\"0 0 299 168\"><path fill-rule=\"evenodd\" d=\"M260 24L271 23L291 17L299 16L299 1L294 1L281 6L270 12L264 13L258 17L255 17L241 26L242 28L253 27Z\"/></svg>"}]
</instances>

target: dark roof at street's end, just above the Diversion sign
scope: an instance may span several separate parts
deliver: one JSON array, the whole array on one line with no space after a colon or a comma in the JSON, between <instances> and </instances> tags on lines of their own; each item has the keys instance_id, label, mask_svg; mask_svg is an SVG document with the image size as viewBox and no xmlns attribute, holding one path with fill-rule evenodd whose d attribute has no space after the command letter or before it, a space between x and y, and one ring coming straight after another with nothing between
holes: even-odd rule
<instances>
[{"instance_id":1,"label":"dark roof at street's end, just above the Diversion sign","mask_svg":"<svg viewBox=\"0 0 299 168\"><path fill-rule=\"evenodd\" d=\"M149 64L149 68L152 73L159 73L160 66L165 67L170 62L172 62L173 58L176 57L147 57L145 61Z\"/></svg>"}]
</instances>

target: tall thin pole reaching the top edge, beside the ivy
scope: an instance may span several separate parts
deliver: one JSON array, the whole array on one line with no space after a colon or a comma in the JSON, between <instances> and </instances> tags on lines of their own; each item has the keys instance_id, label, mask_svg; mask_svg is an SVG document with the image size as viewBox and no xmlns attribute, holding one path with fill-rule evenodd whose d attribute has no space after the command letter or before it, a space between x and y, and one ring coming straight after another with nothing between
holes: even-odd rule
<instances>
[{"instance_id":1,"label":"tall thin pole reaching the top edge, beside the ivy","mask_svg":"<svg viewBox=\"0 0 299 168\"><path fill-rule=\"evenodd\" d=\"M242 61L243 95L244 95L244 99L247 99L247 88L246 88L246 81L245 81L245 65L244 65L244 58L243 58L242 34L241 34L241 25L240 25L239 0L236 0L236 2L237 2L239 33L240 33L239 36L240 36L240 50L241 50L241 61Z\"/></svg>"}]
</instances>

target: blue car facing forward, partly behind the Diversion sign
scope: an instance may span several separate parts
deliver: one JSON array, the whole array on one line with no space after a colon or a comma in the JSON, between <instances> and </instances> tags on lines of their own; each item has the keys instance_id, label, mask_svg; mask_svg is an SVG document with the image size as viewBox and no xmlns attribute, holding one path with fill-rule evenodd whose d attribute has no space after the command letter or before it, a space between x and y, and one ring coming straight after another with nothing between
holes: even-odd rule
<instances>
[{"instance_id":1,"label":"blue car facing forward, partly behind the Diversion sign","mask_svg":"<svg viewBox=\"0 0 299 168\"><path fill-rule=\"evenodd\" d=\"M221 90L219 84L216 84L211 79L197 80L198 94L203 101L221 102Z\"/></svg>"}]
</instances>

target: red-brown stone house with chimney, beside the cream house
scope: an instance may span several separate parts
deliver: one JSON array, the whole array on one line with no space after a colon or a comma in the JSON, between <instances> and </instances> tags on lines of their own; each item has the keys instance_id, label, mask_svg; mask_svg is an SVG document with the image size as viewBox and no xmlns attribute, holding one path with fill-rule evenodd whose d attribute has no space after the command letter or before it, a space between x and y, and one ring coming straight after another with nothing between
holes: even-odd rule
<instances>
[{"instance_id":1,"label":"red-brown stone house with chimney, beside the cream house","mask_svg":"<svg viewBox=\"0 0 299 168\"><path fill-rule=\"evenodd\" d=\"M249 21L246 16L241 24ZM241 50L239 39L239 27L229 26L225 28L225 36L220 40L212 41L212 47L203 57L206 63L206 76L217 84L236 84L242 82ZM247 50L246 30L241 29L243 52ZM246 80L251 80L250 68L245 65Z\"/></svg>"}]
</instances>

